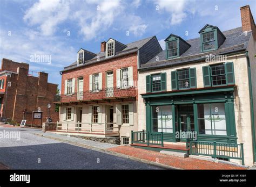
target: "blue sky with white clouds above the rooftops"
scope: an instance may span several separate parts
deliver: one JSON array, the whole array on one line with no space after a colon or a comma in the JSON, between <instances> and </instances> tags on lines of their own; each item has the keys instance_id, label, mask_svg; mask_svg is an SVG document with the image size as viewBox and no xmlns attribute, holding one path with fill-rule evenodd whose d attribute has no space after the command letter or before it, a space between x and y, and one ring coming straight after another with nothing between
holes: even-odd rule
<instances>
[{"instance_id":1,"label":"blue sky with white clouds above the rooftops","mask_svg":"<svg viewBox=\"0 0 256 187\"><path fill-rule=\"evenodd\" d=\"M30 74L45 71L60 84L59 71L80 48L97 53L109 38L127 44L152 35L163 46L170 33L199 37L205 24L229 30L241 26L239 8L247 4L256 19L255 1L1 0L0 58L29 63ZM50 56L51 63L31 55Z\"/></svg>"}]
</instances>

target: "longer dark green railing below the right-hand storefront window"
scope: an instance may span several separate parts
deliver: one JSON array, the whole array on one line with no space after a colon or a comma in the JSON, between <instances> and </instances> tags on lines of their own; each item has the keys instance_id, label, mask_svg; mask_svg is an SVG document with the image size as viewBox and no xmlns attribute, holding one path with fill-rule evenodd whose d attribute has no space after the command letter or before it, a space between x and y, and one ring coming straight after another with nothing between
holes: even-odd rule
<instances>
[{"instance_id":1,"label":"longer dark green railing below the right-hand storefront window","mask_svg":"<svg viewBox=\"0 0 256 187\"><path fill-rule=\"evenodd\" d=\"M223 159L238 159L244 165L244 145L243 143L220 143L207 141L190 141L191 155L205 155Z\"/></svg>"}]
</instances>

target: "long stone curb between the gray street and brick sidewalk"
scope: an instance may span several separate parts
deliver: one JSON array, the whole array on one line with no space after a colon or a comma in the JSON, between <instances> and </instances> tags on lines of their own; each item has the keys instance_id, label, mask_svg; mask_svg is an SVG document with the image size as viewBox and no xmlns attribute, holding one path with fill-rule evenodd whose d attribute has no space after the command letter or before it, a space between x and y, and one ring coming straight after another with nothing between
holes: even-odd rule
<instances>
[{"instance_id":1,"label":"long stone curb between the gray street and brick sidewalk","mask_svg":"<svg viewBox=\"0 0 256 187\"><path fill-rule=\"evenodd\" d=\"M168 165L165 165L165 164L161 164L161 163L157 163L157 162L153 162L153 161L149 161L149 160L145 160L145 159L139 159L138 157L129 156L129 155L125 155L125 154L121 154L121 153L117 153L117 152L112 152L111 150L107 150L107 149L102 149L102 148L93 147L93 146L87 146L87 145L84 145L82 143L74 143L74 142L69 141L69 140L63 140L63 139L54 138L54 137L51 137L51 136L45 136L44 134L36 134L36 133L34 133L34 134L37 135L37 136L42 136L44 138L49 138L49 139L53 139L53 140L58 140L58 141L66 142L66 143L69 143L71 145L75 145L75 146L79 146L79 147L84 147L84 148L91 149L91 150L96 150L97 152L106 153L106 154L109 154L109 155L122 157L124 159L130 159L130 160L134 160L134 161L150 164L152 166L157 166L157 167L164 168L164 169L178 169L178 170L182 170L181 168L175 168L175 167L171 167L171 166L168 166Z\"/></svg>"}]
</instances>

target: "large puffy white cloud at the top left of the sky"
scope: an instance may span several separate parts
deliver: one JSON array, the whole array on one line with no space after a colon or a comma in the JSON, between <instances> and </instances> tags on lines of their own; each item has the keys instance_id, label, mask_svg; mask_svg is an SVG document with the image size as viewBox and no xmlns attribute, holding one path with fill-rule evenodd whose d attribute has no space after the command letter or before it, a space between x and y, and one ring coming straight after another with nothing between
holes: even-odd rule
<instances>
[{"instance_id":1,"label":"large puffy white cloud at the top left of the sky","mask_svg":"<svg viewBox=\"0 0 256 187\"><path fill-rule=\"evenodd\" d=\"M39 25L43 35L53 35L57 25L65 21L69 13L69 1L40 0L25 12L23 19L30 25Z\"/></svg>"}]
</instances>

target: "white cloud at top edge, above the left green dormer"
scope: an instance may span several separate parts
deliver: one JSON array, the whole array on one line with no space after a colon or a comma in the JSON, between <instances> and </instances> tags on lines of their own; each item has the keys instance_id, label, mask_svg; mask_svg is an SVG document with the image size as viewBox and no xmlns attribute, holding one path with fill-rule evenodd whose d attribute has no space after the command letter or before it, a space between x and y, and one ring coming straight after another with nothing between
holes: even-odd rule
<instances>
[{"instance_id":1,"label":"white cloud at top edge, above the left green dormer","mask_svg":"<svg viewBox=\"0 0 256 187\"><path fill-rule=\"evenodd\" d=\"M185 0L158 0L156 4L159 6L159 11L170 13L171 25L180 24L185 18Z\"/></svg>"}]
</instances>

